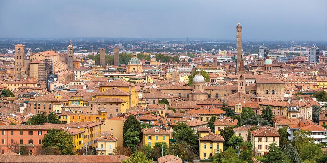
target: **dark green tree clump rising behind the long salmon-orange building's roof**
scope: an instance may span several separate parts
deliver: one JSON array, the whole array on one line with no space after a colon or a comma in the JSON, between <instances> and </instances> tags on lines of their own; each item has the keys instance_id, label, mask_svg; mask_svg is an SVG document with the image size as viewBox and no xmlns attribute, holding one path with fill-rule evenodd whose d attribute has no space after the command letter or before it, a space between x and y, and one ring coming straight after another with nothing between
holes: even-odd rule
<instances>
[{"instance_id":1,"label":"dark green tree clump rising behind the long salmon-orange building's roof","mask_svg":"<svg viewBox=\"0 0 327 163\"><path fill-rule=\"evenodd\" d=\"M45 123L60 124L61 121L54 112L49 111L49 114L46 115L45 111L38 111L36 115L28 119L27 123L28 125L44 125Z\"/></svg>"}]
</instances>

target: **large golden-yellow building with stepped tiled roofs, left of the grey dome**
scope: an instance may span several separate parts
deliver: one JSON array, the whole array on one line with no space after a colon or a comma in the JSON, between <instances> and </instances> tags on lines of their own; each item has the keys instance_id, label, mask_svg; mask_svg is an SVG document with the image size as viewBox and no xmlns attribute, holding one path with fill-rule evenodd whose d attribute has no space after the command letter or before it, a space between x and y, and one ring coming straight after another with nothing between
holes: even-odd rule
<instances>
[{"instance_id":1,"label":"large golden-yellow building with stepped tiled roofs, left of the grey dome","mask_svg":"<svg viewBox=\"0 0 327 163\"><path fill-rule=\"evenodd\" d=\"M100 85L100 90L101 92L96 94L96 98L120 98L126 101L126 103L124 102L120 104L122 113L126 112L127 109L136 106L139 102L138 91L140 91L140 87L121 79L112 82L103 82Z\"/></svg>"}]
</instances>

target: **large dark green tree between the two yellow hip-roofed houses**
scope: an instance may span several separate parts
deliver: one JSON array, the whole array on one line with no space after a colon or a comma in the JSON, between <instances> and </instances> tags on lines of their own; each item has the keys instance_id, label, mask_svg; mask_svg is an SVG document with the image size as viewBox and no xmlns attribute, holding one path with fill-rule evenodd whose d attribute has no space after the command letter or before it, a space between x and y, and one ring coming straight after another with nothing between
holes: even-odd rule
<instances>
[{"instance_id":1,"label":"large dark green tree between the two yellow hip-roofed houses","mask_svg":"<svg viewBox=\"0 0 327 163\"><path fill-rule=\"evenodd\" d=\"M188 142L193 148L197 148L198 136L194 134L194 131L186 123L178 122L174 127L173 138L176 142L185 141Z\"/></svg>"}]
</instances>

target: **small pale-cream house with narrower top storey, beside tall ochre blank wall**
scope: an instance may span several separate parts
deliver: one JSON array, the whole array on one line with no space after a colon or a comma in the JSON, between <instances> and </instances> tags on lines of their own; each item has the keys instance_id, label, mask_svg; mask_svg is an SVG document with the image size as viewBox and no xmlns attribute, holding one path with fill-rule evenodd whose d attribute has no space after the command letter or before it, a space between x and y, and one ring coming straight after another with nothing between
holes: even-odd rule
<instances>
[{"instance_id":1,"label":"small pale-cream house with narrower top storey, beside tall ochre blank wall","mask_svg":"<svg viewBox=\"0 0 327 163\"><path fill-rule=\"evenodd\" d=\"M113 155L113 150L117 147L118 138L112 137L112 132L101 132L96 140L96 155Z\"/></svg>"}]
</instances>

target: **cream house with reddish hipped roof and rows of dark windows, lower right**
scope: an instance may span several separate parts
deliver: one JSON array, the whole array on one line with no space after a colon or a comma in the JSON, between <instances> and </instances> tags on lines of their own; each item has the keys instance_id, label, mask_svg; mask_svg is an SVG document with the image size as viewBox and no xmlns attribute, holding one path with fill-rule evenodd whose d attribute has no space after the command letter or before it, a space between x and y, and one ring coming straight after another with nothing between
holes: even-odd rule
<instances>
[{"instance_id":1,"label":"cream house with reddish hipped roof and rows of dark windows, lower right","mask_svg":"<svg viewBox=\"0 0 327 163\"><path fill-rule=\"evenodd\" d=\"M272 143L276 143L279 146L279 134L277 129L270 126L261 126L258 129L250 131L251 143L253 148L256 149L256 156L262 156L268 154L268 147Z\"/></svg>"}]
</instances>

